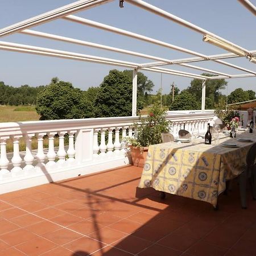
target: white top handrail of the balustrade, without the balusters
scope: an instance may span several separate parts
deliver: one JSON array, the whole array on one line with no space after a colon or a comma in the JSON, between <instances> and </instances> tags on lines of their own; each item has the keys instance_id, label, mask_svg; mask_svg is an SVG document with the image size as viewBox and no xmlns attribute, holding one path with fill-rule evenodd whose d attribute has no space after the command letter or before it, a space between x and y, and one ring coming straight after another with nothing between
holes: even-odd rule
<instances>
[{"instance_id":1,"label":"white top handrail of the balustrade, without the balusters","mask_svg":"<svg viewBox=\"0 0 256 256\"><path fill-rule=\"evenodd\" d=\"M213 113L167 114L166 118L172 122L210 119ZM142 118L145 116L142 116ZM109 126L127 126L138 122L139 117L106 117L85 119L61 119L46 121L6 122L0 123L0 136L19 135L28 133L43 133L59 130L77 130L105 128Z\"/></svg>"}]
</instances>

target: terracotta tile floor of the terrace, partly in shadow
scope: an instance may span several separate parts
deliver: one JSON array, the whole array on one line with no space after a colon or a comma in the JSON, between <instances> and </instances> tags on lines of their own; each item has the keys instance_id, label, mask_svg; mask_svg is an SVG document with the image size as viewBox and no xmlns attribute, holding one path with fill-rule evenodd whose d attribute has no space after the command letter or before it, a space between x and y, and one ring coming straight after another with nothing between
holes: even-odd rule
<instances>
[{"instance_id":1,"label":"terracotta tile floor of the terrace, partly in shadow","mask_svg":"<svg viewBox=\"0 0 256 256\"><path fill-rule=\"evenodd\" d=\"M210 204L138 189L127 166L0 195L0 255L256 255L256 201Z\"/></svg>"}]
</instances>

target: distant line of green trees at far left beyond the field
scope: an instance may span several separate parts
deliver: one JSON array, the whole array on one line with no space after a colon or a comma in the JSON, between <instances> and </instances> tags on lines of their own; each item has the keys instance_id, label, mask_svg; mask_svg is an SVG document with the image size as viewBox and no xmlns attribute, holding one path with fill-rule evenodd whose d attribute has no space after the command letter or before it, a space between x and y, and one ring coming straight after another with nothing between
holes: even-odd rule
<instances>
[{"instance_id":1,"label":"distant line of green trees at far left beyond the field","mask_svg":"<svg viewBox=\"0 0 256 256\"><path fill-rule=\"evenodd\" d=\"M0 105L35 105L38 93L44 88L44 85L31 87L27 84L14 87L0 81Z\"/></svg>"}]
</instances>

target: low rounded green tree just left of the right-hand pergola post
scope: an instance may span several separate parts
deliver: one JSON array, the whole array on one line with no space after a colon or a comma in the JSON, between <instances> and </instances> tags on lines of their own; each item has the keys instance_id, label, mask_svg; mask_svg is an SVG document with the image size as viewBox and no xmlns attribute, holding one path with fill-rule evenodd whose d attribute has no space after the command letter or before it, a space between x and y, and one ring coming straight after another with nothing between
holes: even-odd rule
<instances>
[{"instance_id":1,"label":"low rounded green tree just left of the right-hand pergola post","mask_svg":"<svg viewBox=\"0 0 256 256\"><path fill-rule=\"evenodd\" d=\"M196 96L183 90L174 98L174 102L170 106L170 110L194 110L200 109L200 103L196 100Z\"/></svg>"}]
</instances>

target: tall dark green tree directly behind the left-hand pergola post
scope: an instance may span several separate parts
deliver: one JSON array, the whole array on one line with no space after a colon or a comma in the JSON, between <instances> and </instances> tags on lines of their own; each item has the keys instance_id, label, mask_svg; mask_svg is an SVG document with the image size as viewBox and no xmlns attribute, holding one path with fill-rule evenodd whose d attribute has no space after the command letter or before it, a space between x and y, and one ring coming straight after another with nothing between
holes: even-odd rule
<instances>
[{"instance_id":1,"label":"tall dark green tree directly behind the left-hand pergola post","mask_svg":"<svg viewBox=\"0 0 256 256\"><path fill-rule=\"evenodd\" d=\"M133 86L125 72L113 69L104 77L95 101L96 117L125 117L131 115ZM142 109L137 101L137 109Z\"/></svg>"}]
</instances>

